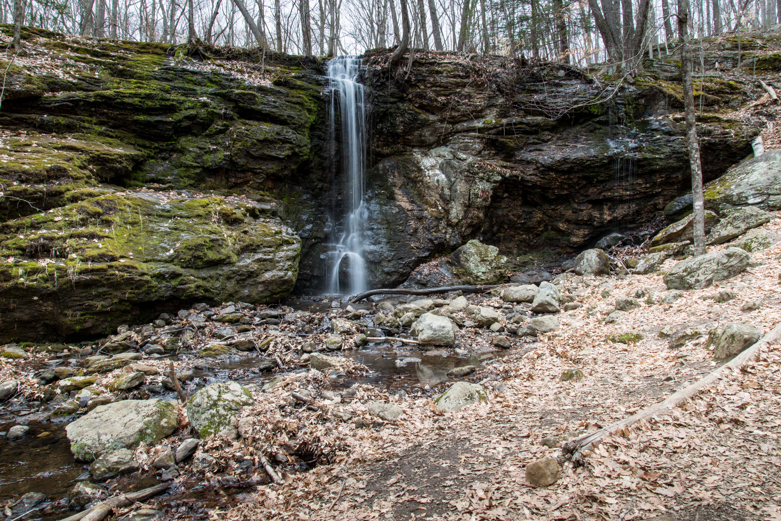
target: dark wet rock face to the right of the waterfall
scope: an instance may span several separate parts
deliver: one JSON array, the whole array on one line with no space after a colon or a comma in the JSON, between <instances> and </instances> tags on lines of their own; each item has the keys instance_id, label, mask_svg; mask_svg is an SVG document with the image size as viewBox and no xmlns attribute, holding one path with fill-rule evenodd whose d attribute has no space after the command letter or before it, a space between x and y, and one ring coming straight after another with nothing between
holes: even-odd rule
<instances>
[{"instance_id":1,"label":"dark wet rock face to the right of the waterfall","mask_svg":"<svg viewBox=\"0 0 781 521\"><path fill-rule=\"evenodd\" d=\"M622 87L612 107L575 109L573 122L554 113L565 90L596 87L570 72L419 57L403 89L381 71L371 80L383 93L373 105L379 161L369 175L369 240L382 271L475 236L502 252L582 250L618 222L662 211L687 181L683 124L644 119L669 108L653 83ZM730 94L711 98L713 108L741 93ZM751 150L733 124L707 126L706 180ZM628 169L631 185L615 179Z\"/></svg>"}]
</instances>

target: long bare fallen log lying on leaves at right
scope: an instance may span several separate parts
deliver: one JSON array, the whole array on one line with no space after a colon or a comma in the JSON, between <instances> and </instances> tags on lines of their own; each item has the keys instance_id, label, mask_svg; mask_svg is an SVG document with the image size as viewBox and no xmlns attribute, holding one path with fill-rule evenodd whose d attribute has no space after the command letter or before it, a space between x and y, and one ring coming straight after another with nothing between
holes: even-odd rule
<instances>
[{"instance_id":1,"label":"long bare fallen log lying on leaves at right","mask_svg":"<svg viewBox=\"0 0 781 521\"><path fill-rule=\"evenodd\" d=\"M729 360L729 362L722 365L722 367L711 371L711 374L708 374L708 376L703 377L701 380L694 382L694 384L674 393L668 399L648 407L647 409L643 409L639 413L635 413L624 420L619 420L610 424L608 427L604 427L593 434L584 434L580 438L568 441L562 446L562 452L564 454L572 454L572 463L575 466L583 465L583 452L591 450L594 447L595 441L598 441L600 438L612 434L615 431L619 431L619 429L629 427L629 425L637 421L645 420L654 416L654 414L662 413L663 411L678 406L680 403L697 395L702 389L708 388L714 384L719 378L725 377L733 371L739 372L747 363L757 358L761 349L774 342L779 342L779 340L781 340L781 324L776 325L772 331L753 346L746 349L743 353L740 353L732 360Z\"/></svg>"}]
</instances>

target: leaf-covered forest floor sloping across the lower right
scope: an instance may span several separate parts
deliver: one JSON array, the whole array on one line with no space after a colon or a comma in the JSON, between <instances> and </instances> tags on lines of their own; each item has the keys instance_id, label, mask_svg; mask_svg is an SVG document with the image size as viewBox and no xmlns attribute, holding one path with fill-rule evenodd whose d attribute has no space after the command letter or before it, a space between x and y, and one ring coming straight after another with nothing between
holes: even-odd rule
<instances>
[{"instance_id":1,"label":"leaf-covered forest floor sloping across the lower right","mask_svg":"<svg viewBox=\"0 0 781 521\"><path fill-rule=\"evenodd\" d=\"M781 238L779 220L764 228ZM752 267L743 275L679 292L669 303L662 302L673 293L662 273L676 261L651 275L586 279L583 307L558 316L562 330L473 378L489 379L488 388L504 384L490 393L490 402L437 413L430 399L393 398L405 415L397 424L356 430L364 447L360 456L287 476L281 486L261 487L255 501L215 514L305 520L781 519L779 346L682 408L602 438L585 466L573 468L555 447L714 370L708 329L746 321L766 333L778 324L779 259L776 243L751 253ZM650 290L653 303L604 323L615 297ZM726 290L737 298L717 303L715 294ZM676 334L658 338L664 326L696 328L702 335L687 342L676 342ZM626 331L641 331L645 339L629 345L606 340ZM459 344L469 343L469 333L462 335ZM584 377L560 381L562 370L574 367ZM541 445L544 438L554 446ZM526 464L549 455L563 463L558 481L531 486Z\"/></svg>"}]
</instances>

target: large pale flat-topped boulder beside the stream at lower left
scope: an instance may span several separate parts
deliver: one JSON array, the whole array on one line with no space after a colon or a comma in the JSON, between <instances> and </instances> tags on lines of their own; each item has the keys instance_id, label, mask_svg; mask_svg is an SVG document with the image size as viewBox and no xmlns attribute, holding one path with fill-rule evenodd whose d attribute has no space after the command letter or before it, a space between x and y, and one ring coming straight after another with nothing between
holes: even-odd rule
<instances>
[{"instance_id":1,"label":"large pale flat-topped boulder beside the stream at lower left","mask_svg":"<svg viewBox=\"0 0 781 521\"><path fill-rule=\"evenodd\" d=\"M70 452L93 461L119 448L154 445L177 428L177 410L160 399L122 400L98 406L65 427Z\"/></svg>"}]
</instances>

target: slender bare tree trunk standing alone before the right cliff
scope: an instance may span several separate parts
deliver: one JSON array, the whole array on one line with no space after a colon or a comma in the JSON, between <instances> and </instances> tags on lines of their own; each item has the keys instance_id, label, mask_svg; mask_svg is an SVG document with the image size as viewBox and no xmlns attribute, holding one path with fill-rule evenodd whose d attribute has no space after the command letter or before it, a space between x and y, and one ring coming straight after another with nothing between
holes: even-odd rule
<instances>
[{"instance_id":1,"label":"slender bare tree trunk standing alone before the right cliff","mask_svg":"<svg viewBox=\"0 0 781 521\"><path fill-rule=\"evenodd\" d=\"M689 0L678 0L678 34L681 45L681 79L683 80L683 107L686 110L686 142L689 145L691 166L691 193L694 202L694 255L705 253L705 214L702 196L702 165L700 144L697 141L697 122L694 119L694 83L691 79L691 51L687 23Z\"/></svg>"}]
</instances>

